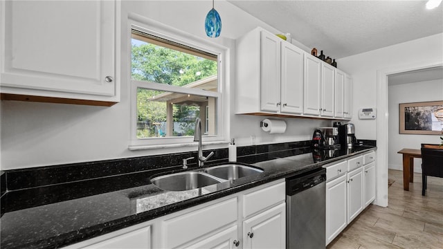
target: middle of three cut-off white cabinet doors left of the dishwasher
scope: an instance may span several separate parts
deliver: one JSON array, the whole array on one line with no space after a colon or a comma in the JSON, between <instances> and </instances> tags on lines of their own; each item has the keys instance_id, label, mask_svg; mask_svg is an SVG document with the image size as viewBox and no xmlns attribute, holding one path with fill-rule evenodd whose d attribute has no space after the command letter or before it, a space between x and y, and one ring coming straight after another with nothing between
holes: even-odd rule
<instances>
[{"instance_id":1,"label":"middle of three cut-off white cabinet doors left of the dishwasher","mask_svg":"<svg viewBox=\"0 0 443 249\"><path fill-rule=\"evenodd\" d=\"M191 243L186 248L201 248L201 249L233 249L236 248L237 239L237 225L210 236L197 243Z\"/></svg>"}]
</instances>

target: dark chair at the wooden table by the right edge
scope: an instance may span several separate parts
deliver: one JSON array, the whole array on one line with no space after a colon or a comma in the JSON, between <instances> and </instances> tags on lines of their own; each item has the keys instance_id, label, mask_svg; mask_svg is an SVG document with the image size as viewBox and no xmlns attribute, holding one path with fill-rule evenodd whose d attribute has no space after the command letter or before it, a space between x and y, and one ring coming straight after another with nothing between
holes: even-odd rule
<instances>
[{"instance_id":1,"label":"dark chair at the wooden table by the right edge","mask_svg":"<svg viewBox=\"0 0 443 249\"><path fill-rule=\"evenodd\" d=\"M428 187L427 176L443 178L443 146L422 144L422 196Z\"/></svg>"}]
</instances>

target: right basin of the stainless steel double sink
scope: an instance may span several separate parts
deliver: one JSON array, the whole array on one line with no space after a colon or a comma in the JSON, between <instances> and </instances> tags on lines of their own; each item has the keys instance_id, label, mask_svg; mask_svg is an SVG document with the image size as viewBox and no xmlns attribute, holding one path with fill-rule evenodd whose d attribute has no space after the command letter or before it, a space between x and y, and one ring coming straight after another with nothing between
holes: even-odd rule
<instances>
[{"instance_id":1,"label":"right basin of the stainless steel double sink","mask_svg":"<svg viewBox=\"0 0 443 249\"><path fill-rule=\"evenodd\" d=\"M226 180L235 180L238 178L253 176L263 172L263 169L248 167L245 165L227 164L214 167L208 167L204 172Z\"/></svg>"}]
</instances>

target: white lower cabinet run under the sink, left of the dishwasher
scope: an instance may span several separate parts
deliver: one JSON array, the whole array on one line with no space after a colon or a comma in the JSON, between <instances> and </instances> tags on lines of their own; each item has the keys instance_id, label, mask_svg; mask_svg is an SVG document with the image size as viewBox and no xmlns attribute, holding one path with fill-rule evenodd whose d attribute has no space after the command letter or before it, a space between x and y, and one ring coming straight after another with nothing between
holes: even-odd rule
<instances>
[{"instance_id":1,"label":"white lower cabinet run under the sink, left of the dishwasher","mask_svg":"<svg viewBox=\"0 0 443 249\"><path fill-rule=\"evenodd\" d=\"M284 179L66 248L286 248Z\"/></svg>"}]
</instances>

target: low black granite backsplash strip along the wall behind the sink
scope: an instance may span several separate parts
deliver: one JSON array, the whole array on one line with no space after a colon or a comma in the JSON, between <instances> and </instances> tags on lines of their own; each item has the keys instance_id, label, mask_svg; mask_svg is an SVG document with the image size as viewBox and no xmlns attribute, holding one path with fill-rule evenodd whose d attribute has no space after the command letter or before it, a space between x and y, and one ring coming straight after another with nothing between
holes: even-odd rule
<instances>
[{"instance_id":1,"label":"low black granite backsplash strip along the wall behind the sink","mask_svg":"<svg viewBox=\"0 0 443 249\"><path fill-rule=\"evenodd\" d=\"M375 146L375 140L360 140L363 145ZM285 153L303 154L309 152L311 140L298 142L282 142L266 145L249 145L237 147L237 160L242 163L255 163L257 158L263 160L266 154ZM294 150L296 149L296 150ZM228 162L228 148L213 149L214 156L206 165ZM295 151L295 152L294 152ZM204 151L205 154L208 151ZM197 167L197 151L178 154L163 154L156 156L141 156L134 158L120 158L114 160L99 160L85 163L66 165L51 165L26 169L10 169L1 172L1 195L7 190L21 190L47 185L87 181L93 178L121 176L134 172L150 172L158 174L161 169L180 169L184 158L189 160L188 167Z\"/></svg>"}]
</instances>

